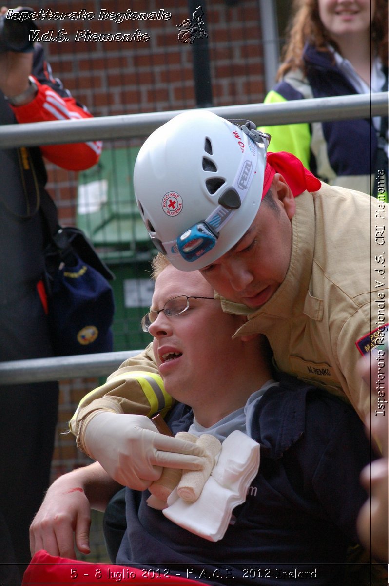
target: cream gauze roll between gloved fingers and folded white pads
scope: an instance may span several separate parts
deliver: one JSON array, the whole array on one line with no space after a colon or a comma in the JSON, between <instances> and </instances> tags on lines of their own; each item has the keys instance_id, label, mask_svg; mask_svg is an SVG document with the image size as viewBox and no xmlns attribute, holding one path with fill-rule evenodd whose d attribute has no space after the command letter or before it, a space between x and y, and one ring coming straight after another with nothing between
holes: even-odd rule
<instances>
[{"instance_id":1,"label":"cream gauze roll between gloved fingers and folded white pads","mask_svg":"<svg viewBox=\"0 0 389 586\"><path fill-rule=\"evenodd\" d=\"M204 468L201 470L184 470L177 486L177 494L186 503L194 503L201 495L206 481L214 468L216 456L222 448L221 442L214 435L202 434L196 442L204 448Z\"/></svg>"}]
</instances>

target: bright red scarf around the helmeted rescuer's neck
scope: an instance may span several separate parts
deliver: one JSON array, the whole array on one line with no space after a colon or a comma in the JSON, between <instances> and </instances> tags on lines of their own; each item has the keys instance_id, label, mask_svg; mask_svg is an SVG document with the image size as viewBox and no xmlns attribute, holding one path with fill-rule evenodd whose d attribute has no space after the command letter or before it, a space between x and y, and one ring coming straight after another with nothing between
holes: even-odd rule
<instances>
[{"instance_id":1,"label":"bright red scarf around the helmeted rescuer's neck","mask_svg":"<svg viewBox=\"0 0 389 586\"><path fill-rule=\"evenodd\" d=\"M270 188L274 175L280 173L288 183L294 197L303 191L315 192L321 187L319 179L305 169L304 165L290 152L268 152L266 155L266 167L263 178L262 197Z\"/></svg>"}]
</instances>

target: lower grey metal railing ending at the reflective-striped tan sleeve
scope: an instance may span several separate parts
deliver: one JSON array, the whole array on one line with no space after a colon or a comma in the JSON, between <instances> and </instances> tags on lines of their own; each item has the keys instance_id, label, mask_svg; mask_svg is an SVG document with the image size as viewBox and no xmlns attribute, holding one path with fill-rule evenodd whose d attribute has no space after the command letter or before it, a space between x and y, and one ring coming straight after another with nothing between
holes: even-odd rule
<instances>
[{"instance_id":1,"label":"lower grey metal railing ending at the reflective-striped tan sleeve","mask_svg":"<svg viewBox=\"0 0 389 586\"><path fill-rule=\"evenodd\" d=\"M43 383L50 380L108 376L124 360L136 356L139 352L141 350L123 350L0 362L0 384Z\"/></svg>"}]
</instances>

